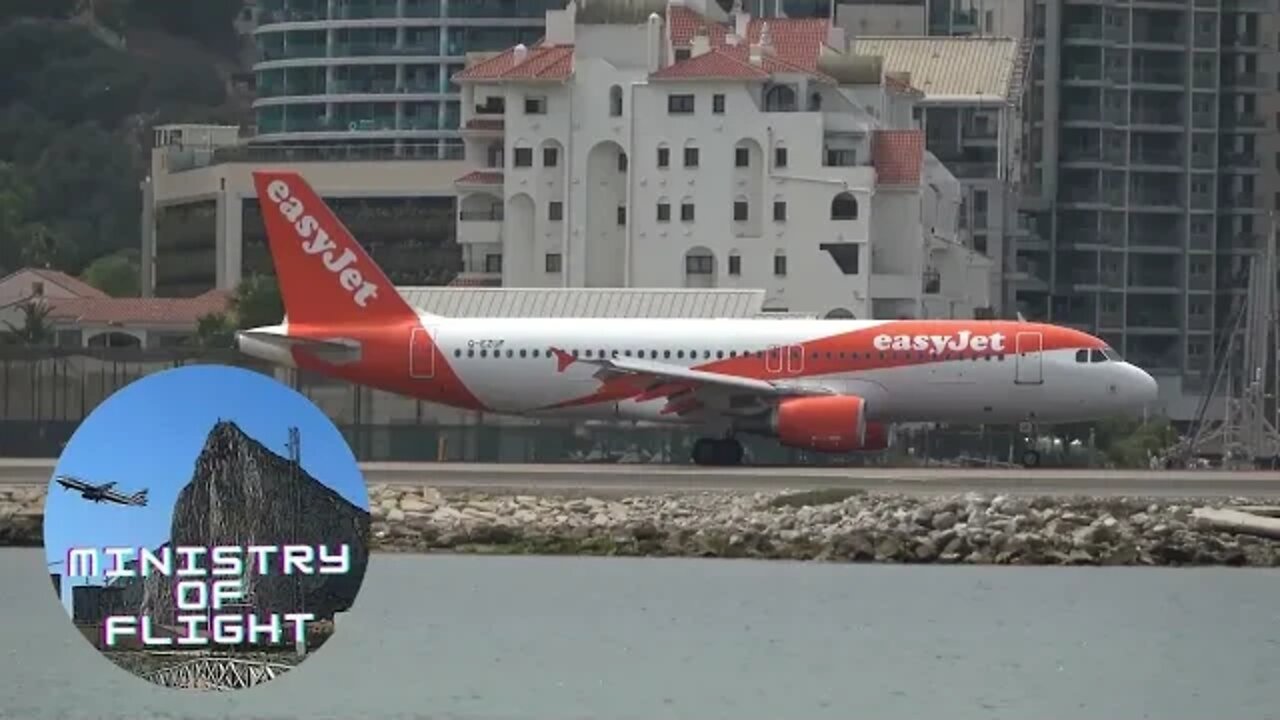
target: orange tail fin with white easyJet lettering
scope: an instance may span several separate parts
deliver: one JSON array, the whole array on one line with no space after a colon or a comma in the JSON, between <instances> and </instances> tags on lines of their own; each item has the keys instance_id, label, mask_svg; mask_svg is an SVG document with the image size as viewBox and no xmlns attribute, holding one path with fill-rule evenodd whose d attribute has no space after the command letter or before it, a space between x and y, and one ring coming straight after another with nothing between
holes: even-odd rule
<instances>
[{"instance_id":1,"label":"orange tail fin with white easyJet lettering","mask_svg":"<svg viewBox=\"0 0 1280 720\"><path fill-rule=\"evenodd\" d=\"M302 176L255 172L253 184L291 325L417 316Z\"/></svg>"}]
</instances>

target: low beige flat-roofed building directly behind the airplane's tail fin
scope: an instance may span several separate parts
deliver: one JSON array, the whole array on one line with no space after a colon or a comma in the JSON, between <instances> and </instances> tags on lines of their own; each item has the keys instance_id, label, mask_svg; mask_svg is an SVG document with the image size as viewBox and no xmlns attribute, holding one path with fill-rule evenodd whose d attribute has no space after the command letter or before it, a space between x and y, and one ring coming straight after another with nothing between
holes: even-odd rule
<instances>
[{"instance_id":1,"label":"low beige flat-roofed building directly behind the airplane's tail fin","mask_svg":"<svg viewBox=\"0 0 1280 720\"><path fill-rule=\"evenodd\" d=\"M448 282L461 266L453 181L463 163L369 159L358 146L243 145L239 128L161 126L142 183L145 296L195 297L270 273L253 170L296 170L397 284Z\"/></svg>"}]
</instances>

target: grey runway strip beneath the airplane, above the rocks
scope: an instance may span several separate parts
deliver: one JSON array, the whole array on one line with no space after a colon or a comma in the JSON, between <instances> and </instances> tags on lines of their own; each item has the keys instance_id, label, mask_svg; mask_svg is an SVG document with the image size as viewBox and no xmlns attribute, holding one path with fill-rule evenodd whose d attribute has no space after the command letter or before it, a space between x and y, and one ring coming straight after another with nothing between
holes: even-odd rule
<instances>
[{"instance_id":1,"label":"grey runway strip beneath the airplane, above the rocks","mask_svg":"<svg viewBox=\"0 0 1280 720\"><path fill-rule=\"evenodd\" d=\"M695 468L691 465L526 465L365 462L371 483L493 492L643 493L844 488L882 492L1011 492L1027 495L1144 495L1280 497L1277 471L1005 470L951 468ZM0 486L45 486L49 459L0 459ZM128 478L104 478L125 483Z\"/></svg>"}]
</instances>

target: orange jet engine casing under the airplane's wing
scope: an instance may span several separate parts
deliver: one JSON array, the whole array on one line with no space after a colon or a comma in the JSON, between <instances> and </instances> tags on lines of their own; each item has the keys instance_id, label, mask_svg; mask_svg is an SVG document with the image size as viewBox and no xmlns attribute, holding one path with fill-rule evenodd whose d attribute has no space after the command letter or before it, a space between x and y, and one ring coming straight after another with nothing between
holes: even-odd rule
<instances>
[{"instance_id":1,"label":"orange jet engine casing under the airplane's wing","mask_svg":"<svg viewBox=\"0 0 1280 720\"><path fill-rule=\"evenodd\" d=\"M888 447L888 428L867 420L867 401L856 395L792 397L773 416L778 442L822 452L869 452Z\"/></svg>"}]
</instances>

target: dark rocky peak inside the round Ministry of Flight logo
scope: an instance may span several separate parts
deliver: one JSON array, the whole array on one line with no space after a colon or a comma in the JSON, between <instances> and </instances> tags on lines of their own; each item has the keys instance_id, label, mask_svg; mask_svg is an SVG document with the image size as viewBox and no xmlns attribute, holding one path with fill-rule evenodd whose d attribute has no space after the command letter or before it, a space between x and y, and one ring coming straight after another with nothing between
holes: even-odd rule
<instances>
[{"instance_id":1,"label":"dark rocky peak inside the round Ministry of Flight logo","mask_svg":"<svg viewBox=\"0 0 1280 720\"><path fill-rule=\"evenodd\" d=\"M348 610L356 600L369 562L369 511L271 452L234 423L219 421L196 459L191 483L178 495L170 544L324 544L337 552L347 543L351 571L346 575L284 575L275 557L270 574L260 575L256 569L246 573L243 603L233 610L261 616L310 612L325 620ZM156 574L146 578L141 612L152 623L175 623L177 582Z\"/></svg>"}]
</instances>

